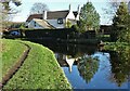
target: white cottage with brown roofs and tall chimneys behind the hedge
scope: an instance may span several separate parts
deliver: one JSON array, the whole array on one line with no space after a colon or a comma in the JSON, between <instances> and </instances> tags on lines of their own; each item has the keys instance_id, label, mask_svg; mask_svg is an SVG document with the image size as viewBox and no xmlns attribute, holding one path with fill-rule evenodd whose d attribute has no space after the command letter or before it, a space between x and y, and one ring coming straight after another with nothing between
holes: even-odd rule
<instances>
[{"instance_id":1,"label":"white cottage with brown roofs and tall chimneys behind the hedge","mask_svg":"<svg viewBox=\"0 0 130 91\"><path fill-rule=\"evenodd\" d=\"M28 28L65 28L66 23L69 21L73 25L79 21L80 9L73 11L70 5L69 10L65 11L44 11L42 14L32 14L27 21Z\"/></svg>"}]
</instances>

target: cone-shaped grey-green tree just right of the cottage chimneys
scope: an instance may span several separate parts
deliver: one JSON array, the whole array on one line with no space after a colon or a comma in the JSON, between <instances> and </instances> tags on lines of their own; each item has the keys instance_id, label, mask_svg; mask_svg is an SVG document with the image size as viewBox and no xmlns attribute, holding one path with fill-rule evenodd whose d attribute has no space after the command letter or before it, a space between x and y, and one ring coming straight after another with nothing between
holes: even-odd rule
<instances>
[{"instance_id":1,"label":"cone-shaped grey-green tree just right of the cottage chimneys","mask_svg":"<svg viewBox=\"0 0 130 91\"><path fill-rule=\"evenodd\" d=\"M92 2L87 2L81 8L79 26L82 31L100 28L100 14L96 12Z\"/></svg>"}]
</instances>

